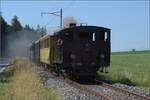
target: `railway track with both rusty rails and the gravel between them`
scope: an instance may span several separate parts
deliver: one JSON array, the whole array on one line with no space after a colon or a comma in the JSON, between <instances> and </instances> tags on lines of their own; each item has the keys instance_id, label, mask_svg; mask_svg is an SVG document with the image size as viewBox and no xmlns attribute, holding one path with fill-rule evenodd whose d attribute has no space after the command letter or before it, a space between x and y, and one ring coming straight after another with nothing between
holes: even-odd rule
<instances>
[{"instance_id":1,"label":"railway track with both rusty rails and the gravel between them","mask_svg":"<svg viewBox=\"0 0 150 100\"><path fill-rule=\"evenodd\" d=\"M77 83L77 82L72 81L68 78L64 78L63 76L57 76L56 77L56 73L55 74L53 73L53 75L55 76L55 78L57 80L61 80L65 83L69 84L70 86L78 89L79 91L82 91L84 93L87 93L89 95L97 97L96 100L150 100L149 97L131 92L131 91L126 90L126 89L118 88L118 87L115 87L111 84L101 82L98 80L97 81L101 84L87 85L87 84ZM96 86L96 88L92 88L92 86ZM103 88L101 88L102 91L111 90L111 91L115 91L116 93L114 95L113 94L109 95L111 92L103 93L101 91L97 91L96 89L98 87L103 87Z\"/></svg>"}]
</instances>

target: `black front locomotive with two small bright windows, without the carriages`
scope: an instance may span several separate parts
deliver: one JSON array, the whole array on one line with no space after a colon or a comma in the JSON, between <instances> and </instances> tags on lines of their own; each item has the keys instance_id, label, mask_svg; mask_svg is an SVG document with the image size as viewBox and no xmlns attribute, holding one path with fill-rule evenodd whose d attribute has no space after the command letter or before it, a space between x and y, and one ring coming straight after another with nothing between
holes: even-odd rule
<instances>
[{"instance_id":1,"label":"black front locomotive with two small bright windows, without the carriages","mask_svg":"<svg viewBox=\"0 0 150 100\"><path fill-rule=\"evenodd\" d=\"M110 30L78 26L61 32L63 66L77 77L95 77L99 68L110 64Z\"/></svg>"}]
</instances>

